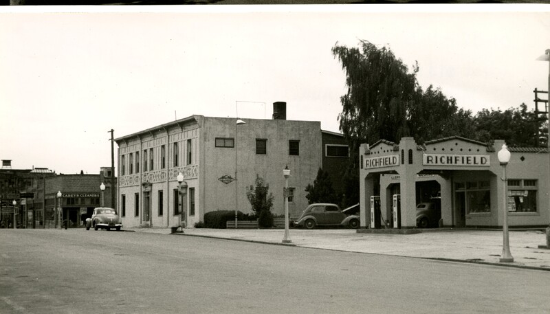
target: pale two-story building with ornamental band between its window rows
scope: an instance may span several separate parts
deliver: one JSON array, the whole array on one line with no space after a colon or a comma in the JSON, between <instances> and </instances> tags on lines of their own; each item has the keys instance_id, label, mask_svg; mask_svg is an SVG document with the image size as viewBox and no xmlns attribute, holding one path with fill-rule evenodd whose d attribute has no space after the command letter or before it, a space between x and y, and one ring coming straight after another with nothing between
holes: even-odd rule
<instances>
[{"instance_id":1,"label":"pale two-story building with ornamental band between its window rows","mask_svg":"<svg viewBox=\"0 0 550 314\"><path fill-rule=\"evenodd\" d=\"M115 139L124 226L192 227L210 211L250 213L246 193L256 176L274 196L272 212L283 214L285 166L291 170L289 213L297 216L307 206L305 187L323 166L320 122L274 117L193 115ZM181 194L180 173L185 186Z\"/></svg>"}]
</instances>

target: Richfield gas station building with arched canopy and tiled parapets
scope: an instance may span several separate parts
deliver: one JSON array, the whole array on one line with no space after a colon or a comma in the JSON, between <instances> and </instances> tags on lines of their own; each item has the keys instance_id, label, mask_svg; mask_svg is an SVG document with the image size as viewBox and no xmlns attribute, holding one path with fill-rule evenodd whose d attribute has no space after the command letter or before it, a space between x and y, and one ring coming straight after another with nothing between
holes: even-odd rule
<instances>
[{"instance_id":1,"label":"Richfield gas station building with arched canopy and tiled parapets","mask_svg":"<svg viewBox=\"0 0 550 314\"><path fill-rule=\"evenodd\" d=\"M443 227L499 228L505 208L510 228L546 227L548 149L508 148L504 168L497 157L503 144L456 136L421 145L412 137L362 144L361 227L415 228L417 204L435 201L441 206L437 225Z\"/></svg>"}]
</instances>

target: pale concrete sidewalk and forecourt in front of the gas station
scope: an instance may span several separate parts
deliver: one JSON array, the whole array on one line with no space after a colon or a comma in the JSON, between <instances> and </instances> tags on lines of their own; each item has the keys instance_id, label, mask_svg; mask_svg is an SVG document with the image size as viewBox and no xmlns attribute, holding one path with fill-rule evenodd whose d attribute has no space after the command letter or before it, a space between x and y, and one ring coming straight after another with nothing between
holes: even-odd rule
<instances>
[{"instance_id":1,"label":"pale concrete sidewalk and forecourt in front of the gas station","mask_svg":"<svg viewBox=\"0 0 550 314\"><path fill-rule=\"evenodd\" d=\"M127 231L170 234L170 228L131 228ZM354 229L290 229L292 243L283 244L284 229L188 228L178 236L203 236L256 243L292 245L359 253L477 262L550 271L550 249L542 231L510 231L514 262L499 262L503 249L502 230L430 229L418 234L370 234Z\"/></svg>"}]
</instances>

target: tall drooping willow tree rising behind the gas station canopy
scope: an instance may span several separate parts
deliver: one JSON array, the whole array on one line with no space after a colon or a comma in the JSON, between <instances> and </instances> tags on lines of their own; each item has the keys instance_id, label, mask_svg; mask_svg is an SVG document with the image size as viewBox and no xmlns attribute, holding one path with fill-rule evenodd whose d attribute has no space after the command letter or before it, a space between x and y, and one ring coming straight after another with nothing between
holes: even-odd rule
<instances>
[{"instance_id":1,"label":"tall drooping willow tree rising behind the gas station canopy","mask_svg":"<svg viewBox=\"0 0 550 314\"><path fill-rule=\"evenodd\" d=\"M412 136L427 139L465 135L471 131L471 113L458 111L456 101L430 85L423 91L417 81L418 64L410 70L388 47L360 41L359 47L334 45L334 58L342 63L347 93L340 97L340 131L350 144L348 182L343 203L358 200L358 151L361 143L379 139L399 142ZM456 123L453 117L465 117Z\"/></svg>"}]
</instances>

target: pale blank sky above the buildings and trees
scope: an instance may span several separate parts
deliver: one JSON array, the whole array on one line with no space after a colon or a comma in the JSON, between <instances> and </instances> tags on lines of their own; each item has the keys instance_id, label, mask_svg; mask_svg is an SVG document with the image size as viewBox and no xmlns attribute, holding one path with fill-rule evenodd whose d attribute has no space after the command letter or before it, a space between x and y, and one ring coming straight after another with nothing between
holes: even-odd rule
<instances>
[{"instance_id":1,"label":"pale blank sky above the buildings and trees","mask_svg":"<svg viewBox=\"0 0 550 314\"><path fill-rule=\"evenodd\" d=\"M339 132L338 43L389 47L459 108L533 109L550 5L0 8L0 159L99 173L122 137L188 117L320 121ZM115 155L117 146L115 144ZM116 165L115 165L116 166Z\"/></svg>"}]
</instances>

